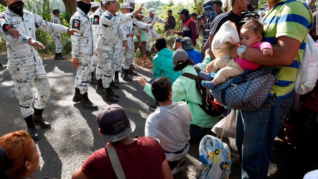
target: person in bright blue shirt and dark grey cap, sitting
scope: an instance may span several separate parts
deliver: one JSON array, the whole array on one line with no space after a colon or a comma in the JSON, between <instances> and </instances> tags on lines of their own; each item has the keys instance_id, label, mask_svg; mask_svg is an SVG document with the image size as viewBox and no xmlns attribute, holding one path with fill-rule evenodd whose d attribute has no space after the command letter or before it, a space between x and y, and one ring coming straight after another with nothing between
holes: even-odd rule
<instances>
[{"instance_id":1,"label":"person in bright blue shirt and dark grey cap, sitting","mask_svg":"<svg viewBox=\"0 0 318 179\"><path fill-rule=\"evenodd\" d=\"M194 62L194 65L202 63L202 55L199 51L194 49L192 40L189 37L183 37L181 40L182 49L185 50L190 58Z\"/></svg>"}]
</instances>

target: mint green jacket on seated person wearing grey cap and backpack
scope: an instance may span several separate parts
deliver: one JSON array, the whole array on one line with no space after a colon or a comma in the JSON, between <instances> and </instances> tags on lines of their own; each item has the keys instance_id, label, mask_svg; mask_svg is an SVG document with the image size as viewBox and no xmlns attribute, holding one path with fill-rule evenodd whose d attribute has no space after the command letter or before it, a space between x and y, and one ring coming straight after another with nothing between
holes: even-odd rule
<instances>
[{"instance_id":1,"label":"mint green jacket on seated person wearing grey cap and backpack","mask_svg":"<svg viewBox=\"0 0 318 179\"><path fill-rule=\"evenodd\" d=\"M198 63L195 66L201 68L204 71L205 65L211 62L210 56L205 56L204 61L202 63ZM188 65L181 71L181 75L183 73L191 73L193 75L197 75L197 71L193 66ZM198 125L200 127L208 127L212 128L214 125L218 123L219 116L212 117L207 115L199 105L203 104L202 98L197 91L196 82L190 78L179 76L176 81L172 84L172 101L179 102L182 100L186 100L189 105L189 109L192 115L192 121L190 124ZM149 96L153 97L151 93L151 85L148 83L143 89ZM154 98L154 97L153 97ZM180 111L182 112L182 111Z\"/></svg>"}]
</instances>

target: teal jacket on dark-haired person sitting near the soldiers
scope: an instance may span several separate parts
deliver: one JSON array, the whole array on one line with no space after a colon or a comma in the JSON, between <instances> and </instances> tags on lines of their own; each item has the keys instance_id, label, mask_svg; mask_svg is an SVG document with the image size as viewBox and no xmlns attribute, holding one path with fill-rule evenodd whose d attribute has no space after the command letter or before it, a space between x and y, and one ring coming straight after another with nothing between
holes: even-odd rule
<instances>
[{"instance_id":1,"label":"teal jacket on dark-haired person sitting near the soldiers","mask_svg":"<svg viewBox=\"0 0 318 179\"><path fill-rule=\"evenodd\" d=\"M163 48L153 58L152 62L154 63L154 71L152 74L155 79L160 76L166 76L172 84L180 76L180 71L173 70L174 65L172 55L172 50L169 48Z\"/></svg>"}]
</instances>

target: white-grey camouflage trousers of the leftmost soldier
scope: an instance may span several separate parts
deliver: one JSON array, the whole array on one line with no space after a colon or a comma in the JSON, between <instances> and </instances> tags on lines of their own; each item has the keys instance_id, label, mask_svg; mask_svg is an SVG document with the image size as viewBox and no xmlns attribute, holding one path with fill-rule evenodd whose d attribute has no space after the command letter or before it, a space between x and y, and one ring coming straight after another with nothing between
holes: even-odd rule
<instances>
[{"instance_id":1,"label":"white-grey camouflage trousers of the leftmost soldier","mask_svg":"<svg viewBox=\"0 0 318 179\"><path fill-rule=\"evenodd\" d=\"M32 103L34 101L32 86L34 87L34 107L43 109L50 97L51 84L43 68L42 60L38 64L23 67L9 66L9 74L12 77L20 110L23 117L33 114Z\"/></svg>"}]
</instances>

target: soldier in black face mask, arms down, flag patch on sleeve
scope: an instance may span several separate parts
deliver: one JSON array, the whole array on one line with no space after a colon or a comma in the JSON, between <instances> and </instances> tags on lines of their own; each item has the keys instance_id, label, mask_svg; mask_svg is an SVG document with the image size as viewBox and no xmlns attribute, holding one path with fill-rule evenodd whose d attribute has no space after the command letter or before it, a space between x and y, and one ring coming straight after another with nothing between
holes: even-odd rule
<instances>
[{"instance_id":1,"label":"soldier in black face mask, arms down, flag patch on sleeve","mask_svg":"<svg viewBox=\"0 0 318 179\"><path fill-rule=\"evenodd\" d=\"M92 24L87 15L91 9L90 0L76 0L77 11L71 17L70 27L78 29L82 34L71 37L72 41L72 67L77 69L75 78L75 94L73 102L81 102L84 109L98 109L88 99L88 86L91 83L92 59L93 56L93 34Z\"/></svg>"}]
</instances>

